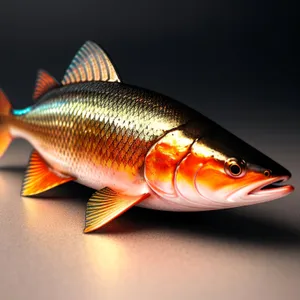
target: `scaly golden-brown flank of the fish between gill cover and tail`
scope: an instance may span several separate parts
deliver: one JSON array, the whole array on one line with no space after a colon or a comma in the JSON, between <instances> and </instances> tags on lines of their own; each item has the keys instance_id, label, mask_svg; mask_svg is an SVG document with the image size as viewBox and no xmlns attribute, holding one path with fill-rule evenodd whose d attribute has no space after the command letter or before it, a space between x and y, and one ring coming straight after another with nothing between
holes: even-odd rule
<instances>
[{"instance_id":1,"label":"scaly golden-brown flank of the fish between gill cover and tail","mask_svg":"<svg viewBox=\"0 0 300 300\"><path fill-rule=\"evenodd\" d=\"M83 181L95 174L99 186L105 171L143 180L140 170L153 143L189 120L167 97L155 96L119 83L70 85L49 92L12 126L42 156L55 157L52 163L63 173Z\"/></svg>"}]
</instances>

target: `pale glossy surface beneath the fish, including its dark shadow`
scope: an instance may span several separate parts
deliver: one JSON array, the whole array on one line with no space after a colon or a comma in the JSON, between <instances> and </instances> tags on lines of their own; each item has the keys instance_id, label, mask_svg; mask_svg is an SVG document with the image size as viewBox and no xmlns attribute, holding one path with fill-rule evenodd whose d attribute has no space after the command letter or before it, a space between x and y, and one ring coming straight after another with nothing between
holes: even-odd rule
<instances>
[{"instance_id":1,"label":"pale glossy surface beneath the fish, including its dark shadow","mask_svg":"<svg viewBox=\"0 0 300 300\"><path fill-rule=\"evenodd\" d=\"M92 190L19 196L30 150L15 141L1 161L1 299L299 299L299 161L296 191L281 200L202 213L134 208L84 235Z\"/></svg>"}]
</instances>

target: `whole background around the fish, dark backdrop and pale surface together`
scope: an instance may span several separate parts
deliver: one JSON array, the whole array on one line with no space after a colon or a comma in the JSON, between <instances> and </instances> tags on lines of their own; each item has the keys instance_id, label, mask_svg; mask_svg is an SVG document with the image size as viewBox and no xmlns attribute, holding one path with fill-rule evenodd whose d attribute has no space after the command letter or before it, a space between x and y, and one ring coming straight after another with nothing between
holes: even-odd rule
<instances>
[{"instance_id":1,"label":"whole background around the fish, dark backdrop and pale surface together","mask_svg":"<svg viewBox=\"0 0 300 300\"><path fill-rule=\"evenodd\" d=\"M287 1L1 1L0 86L14 107L32 103L38 68L61 79L94 40L125 82L237 134L287 167L296 190L224 211L133 208L84 235L92 190L22 199L31 148L15 141L0 162L0 298L299 299L296 12Z\"/></svg>"}]
</instances>

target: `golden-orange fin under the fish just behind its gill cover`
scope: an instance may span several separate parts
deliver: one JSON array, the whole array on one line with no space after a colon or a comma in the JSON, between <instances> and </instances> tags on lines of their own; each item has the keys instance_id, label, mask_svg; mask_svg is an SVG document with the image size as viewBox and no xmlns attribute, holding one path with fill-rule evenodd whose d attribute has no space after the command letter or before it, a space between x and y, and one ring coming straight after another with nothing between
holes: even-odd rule
<instances>
[{"instance_id":1,"label":"golden-orange fin under the fish just behind its gill cover","mask_svg":"<svg viewBox=\"0 0 300 300\"><path fill-rule=\"evenodd\" d=\"M148 196L122 195L107 187L94 193L87 204L84 233L102 227Z\"/></svg>"}]
</instances>

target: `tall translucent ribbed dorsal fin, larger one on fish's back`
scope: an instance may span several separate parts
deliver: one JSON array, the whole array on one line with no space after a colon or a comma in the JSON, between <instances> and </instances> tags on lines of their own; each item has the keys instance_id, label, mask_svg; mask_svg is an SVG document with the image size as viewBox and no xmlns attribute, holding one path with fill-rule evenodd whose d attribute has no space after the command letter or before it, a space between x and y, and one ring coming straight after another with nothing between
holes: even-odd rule
<instances>
[{"instance_id":1,"label":"tall translucent ribbed dorsal fin, larger one on fish's back","mask_svg":"<svg viewBox=\"0 0 300 300\"><path fill-rule=\"evenodd\" d=\"M87 41L77 52L62 84L85 81L121 81L107 54L91 41Z\"/></svg>"}]
</instances>

